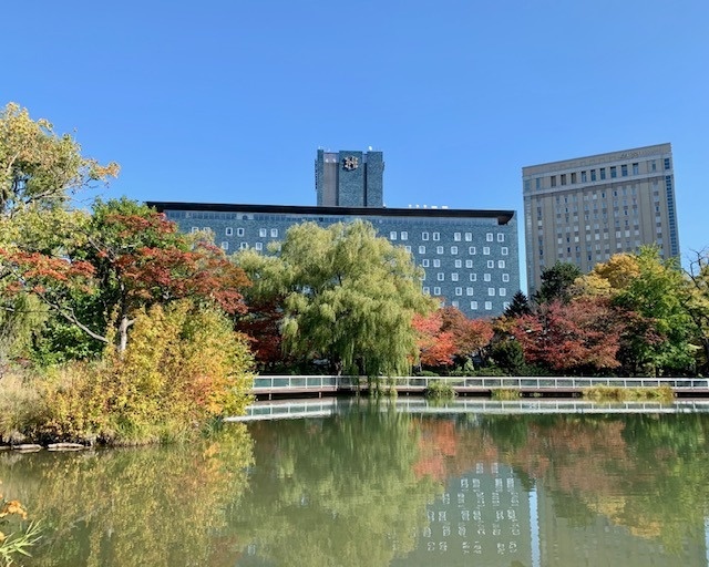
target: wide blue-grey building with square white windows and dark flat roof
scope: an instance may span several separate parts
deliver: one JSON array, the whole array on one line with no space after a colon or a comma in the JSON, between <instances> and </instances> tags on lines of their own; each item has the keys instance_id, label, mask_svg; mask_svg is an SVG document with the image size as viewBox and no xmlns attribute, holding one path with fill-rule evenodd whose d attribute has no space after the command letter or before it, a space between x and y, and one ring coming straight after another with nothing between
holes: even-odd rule
<instances>
[{"instance_id":1,"label":"wide blue-grey building with square white windows and dark flat roof","mask_svg":"<svg viewBox=\"0 0 709 567\"><path fill-rule=\"evenodd\" d=\"M516 215L513 210L307 207L156 203L182 231L210 229L227 252L268 254L295 224L319 226L360 218L379 236L409 250L424 270L423 291L469 317L501 315L520 289Z\"/></svg>"}]
</instances>

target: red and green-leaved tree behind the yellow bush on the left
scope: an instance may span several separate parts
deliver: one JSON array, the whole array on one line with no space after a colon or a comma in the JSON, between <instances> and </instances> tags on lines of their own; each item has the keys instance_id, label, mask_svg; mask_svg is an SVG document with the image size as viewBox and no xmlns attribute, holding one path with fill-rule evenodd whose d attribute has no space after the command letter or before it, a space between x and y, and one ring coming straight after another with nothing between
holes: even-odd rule
<instances>
[{"instance_id":1,"label":"red and green-leaved tree behind the yellow bush on the left","mask_svg":"<svg viewBox=\"0 0 709 567\"><path fill-rule=\"evenodd\" d=\"M205 240L137 203L97 200L93 215L72 225L73 239L42 251L0 249L8 291L31 293L53 313L99 343L109 343L115 321L125 351L134 315L142 308L191 298L245 311L242 269Z\"/></svg>"}]
</instances>

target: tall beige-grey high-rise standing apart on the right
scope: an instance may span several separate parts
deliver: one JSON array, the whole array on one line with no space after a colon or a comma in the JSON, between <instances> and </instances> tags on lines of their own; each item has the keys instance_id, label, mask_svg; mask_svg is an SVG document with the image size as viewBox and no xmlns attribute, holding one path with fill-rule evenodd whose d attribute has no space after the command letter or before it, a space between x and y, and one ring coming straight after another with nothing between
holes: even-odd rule
<instances>
[{"instance_id":1,"label":"tall beige-grey high-rise standing apart on the right","mask_svg":"<svg viewBox=\"0 0 709 567\"><path fill-rule=\"evenodd\" d=\"M679 256L670 144L522 168L530 293L556 261L590 271L640 246Z\"/></svg>"}]
</instances>

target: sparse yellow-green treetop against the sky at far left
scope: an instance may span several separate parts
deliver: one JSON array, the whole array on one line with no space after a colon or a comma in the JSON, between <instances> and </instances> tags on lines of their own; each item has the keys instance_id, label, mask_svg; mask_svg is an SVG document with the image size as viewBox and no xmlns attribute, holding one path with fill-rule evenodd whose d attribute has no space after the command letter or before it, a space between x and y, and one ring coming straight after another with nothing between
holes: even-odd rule
<instances>
[{"instance_id":1,"label":"sparse yellow-green treetop against the sky at far left","mask_svg":"<svg viewBox=\"0 0 709 567\"><path fill-rule=\"evenodd\" d=\"M44 118L32 121L19 104L0 111L0 217L61 206L71 193L117 173L115 163L82 156L69 134L59 136Z\"/></svg>"}]
</instances>

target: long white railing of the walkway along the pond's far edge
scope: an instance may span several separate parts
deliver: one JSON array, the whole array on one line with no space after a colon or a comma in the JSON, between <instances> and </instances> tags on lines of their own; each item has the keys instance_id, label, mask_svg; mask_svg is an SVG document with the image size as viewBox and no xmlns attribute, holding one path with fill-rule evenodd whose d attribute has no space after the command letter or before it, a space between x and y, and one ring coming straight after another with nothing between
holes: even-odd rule
<instances>
[{"instance_id":1,"label":"long white railing of the walkway along the pond's far edge","mask_svg":"<svg viewBox=\"0 0 709 567\"><path fill-rule=\"evenodd\" d=\"M430 384L448 384L470 390L583 390L592 386L659 388L672 390L709 390L706 378L578 378L578 377L397 377L381 378L383 386L401 390L425 390ZM337 375L274 375L254 379L253 392L274 391L338 391L362 388L367 377Z\"/></svg>"}]
</instances>

